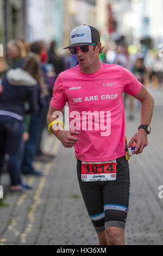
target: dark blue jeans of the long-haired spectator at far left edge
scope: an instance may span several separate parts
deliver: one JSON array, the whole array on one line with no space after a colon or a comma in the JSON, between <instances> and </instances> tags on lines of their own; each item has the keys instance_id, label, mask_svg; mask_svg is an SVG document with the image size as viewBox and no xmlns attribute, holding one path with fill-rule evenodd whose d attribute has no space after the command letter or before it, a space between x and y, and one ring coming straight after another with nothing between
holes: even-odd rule
<instances>
[{"instance_id":1,"label":"dark blue jeans of the long-haired spectator at far left edge","mask_svg":"<svg viewBox=\"0 0 163 256\"><path fill-rule=\"evenodd\" d=\"M5 159L9 155L8 172L12 186L21 184L20 158L23 135L23 121L0 115L0 174Z\"/></svg>"}]
</instances>

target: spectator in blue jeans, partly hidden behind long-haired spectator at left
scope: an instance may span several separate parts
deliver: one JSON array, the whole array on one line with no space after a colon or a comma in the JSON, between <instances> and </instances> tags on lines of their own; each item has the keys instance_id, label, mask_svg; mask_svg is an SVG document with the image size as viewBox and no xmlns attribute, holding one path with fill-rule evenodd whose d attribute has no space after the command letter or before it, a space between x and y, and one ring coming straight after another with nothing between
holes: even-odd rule
<instances>
[{"instance_id":1,"label":"spectator in blue jeans, partly hidden behind long-haired spectator at left","mask_svg":"<svg viewBox=\"0 0 163 256\"><path fill-rule=\"evenodd\" d=\"M45 64L41 63L41 53L43 51L42 41L35 41L30 45L30 51L35 53L40 63L41 76L43 84L46 87L47 95L43 102L40 103L40 111L33 114L30 119L29 125L29 140L26 142L24 148L24 158L22 162L22 174L24 175L42 175L41 172L35 170L33 161L51 161L53 159L52 154L43 152L41 147L43 129L45 128L47 112L49 108L49 90L48 90L48 77Z\"/></svg>"}]
</instances>

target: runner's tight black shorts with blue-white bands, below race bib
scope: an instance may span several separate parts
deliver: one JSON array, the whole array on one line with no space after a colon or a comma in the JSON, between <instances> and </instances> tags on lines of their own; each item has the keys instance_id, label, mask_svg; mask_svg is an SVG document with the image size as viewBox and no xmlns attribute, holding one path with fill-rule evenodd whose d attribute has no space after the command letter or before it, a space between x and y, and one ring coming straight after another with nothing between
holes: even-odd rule
<instances>
[{"instance_id":1,"label":"runner's tight black shorts with blue-white bands, below race bib","mask_svg":"<svg viewBox=\"0 0 163 256\"><path fill-rule=\"evenodd\" d=\"M82 181L82 161L77 160L80 190L96 231L108 227L125 228L130 190L129 165L126 157L117 159L116 180Z\"/></svg>"}]
</instances>

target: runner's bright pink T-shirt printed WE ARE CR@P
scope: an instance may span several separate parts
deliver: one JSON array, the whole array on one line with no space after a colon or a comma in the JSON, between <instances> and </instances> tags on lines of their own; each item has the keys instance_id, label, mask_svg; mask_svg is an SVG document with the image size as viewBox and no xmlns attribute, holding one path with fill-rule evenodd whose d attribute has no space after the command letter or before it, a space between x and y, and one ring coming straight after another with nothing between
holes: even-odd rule
<instances>
[{"instance_id":1,"label":"runner's bright pink T-shirt printed WE ARE CR@P","mask_svg":"<svg viewBox=\"0 0 163 256\"><path fill-rule=\"evenodd\" d=\"M107 161L125 155L122 92L136 95L141 87L129 70L114 64L101 63L92 74L81 72L79 65L61 72L54 84L51 105L62 108L68 102L70 130L80 132L74 146L79 160ZM93 116L89 119L93 120L92 127L88 125L88 113L89 118ZM77 129L71 129L72 124Z\"/></svg>"}]
</instances>

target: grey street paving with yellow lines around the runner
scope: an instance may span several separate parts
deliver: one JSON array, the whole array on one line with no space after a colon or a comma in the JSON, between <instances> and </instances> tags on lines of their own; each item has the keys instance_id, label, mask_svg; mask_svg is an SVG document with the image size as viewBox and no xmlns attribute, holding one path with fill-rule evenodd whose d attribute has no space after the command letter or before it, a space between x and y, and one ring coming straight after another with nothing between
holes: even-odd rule
<instances>
[{"instance_id":1,"label":"grey street paving with yellow lines around the runner","mask_svg":"<svg viewBox=\"0 0 163 256\"><path fill-rule=\"evenodd\" d=\"M163 245L163 198L159 198L162 176L163 88L147 88L155 100L148 146L131 156L130 204L126 223L126 245ZM134 101L134 119L128 119L128 141L140 124L140 109ZM55 155L48 163L35 162L45 175L28 176L33 186L26 193L5 193L0 201L0 245L98 245L97 235L79 190L74 149L65 149L44 132L43 148ZM1 185L9 184L3 174ZM163 195L163 192L162 192Z\"/></svg>"}]
</instances>

